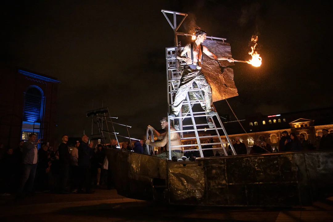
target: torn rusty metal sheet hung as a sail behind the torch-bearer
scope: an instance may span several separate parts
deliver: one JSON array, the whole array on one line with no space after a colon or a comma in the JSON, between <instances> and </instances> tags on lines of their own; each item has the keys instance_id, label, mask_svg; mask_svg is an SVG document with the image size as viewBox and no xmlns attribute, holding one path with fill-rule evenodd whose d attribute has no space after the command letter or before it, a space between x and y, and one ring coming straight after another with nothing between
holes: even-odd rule
<instances>
[{"instance_id":1,"label":"torn rusty metal sheet hung as a sail behind the torch-bearer","mask_svg":"<svg viewBox=\"0 0 333 222\"><path fill-rule=\"evenodd\" d=\"M228 43L205 40L202 45L217 56L232 57L231 47ZM233 70L227 67L231 65L234 65L234 63L216 61L203 54L202 72L212 89L213 102L238 96L233 80Z\"/></svg>"}]
</instances>

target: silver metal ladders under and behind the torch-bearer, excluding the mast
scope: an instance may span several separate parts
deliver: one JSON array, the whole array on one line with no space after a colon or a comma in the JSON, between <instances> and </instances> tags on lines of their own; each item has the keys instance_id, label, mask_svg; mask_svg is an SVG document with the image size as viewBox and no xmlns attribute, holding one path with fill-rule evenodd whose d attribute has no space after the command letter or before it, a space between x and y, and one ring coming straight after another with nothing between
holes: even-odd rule
<instances>
[{"instance_id":1,"label":"silver metal ladders under and behind the torch-bearer, excluding the mast","mask_svg":"<svg viewBox=\"0 0 333 222\"><path fill-rule=\"evenodd\" d=\"M181 52L181 50L183 49L183 47L169 47L166 48L166 75L167 75L167 89L168 89L168 107L172 108L173 106L173 95L177 92L177 89L179 87L180 84L180 78L181 78L181 74L182 72L181 70L181 66L185 65L185 63L183 61L178 61L176 56L178 53ZM198 146L198 149L187 149L187 150L183 150L183 152L186 151L199 151L200 153L200 157L204 157L203 156L203 152L202 152L202 145L200 142L200 138L209 138L212 137L210 136L199 136L199 131L205 131L205 130L215 130L218 138L219 138L219 142L212 142L212 143L204 143L204 145L217 145L217 144L221 144L221 147L217 147L217 148L208 148L208 149L204 149L204 150L209 150L209 149L223 149L225 155L227 155L227 151L226 151L226 147L225 144L229 143L230 148L233 152L234 155L237 155L233 145L231 143L231 140L228 137L228 134L223 126L223 123L220 119L220 117L218 116L217 112L213 115L208 115L205 111L201 111L201 112L193 112L192 111L192 107L194 104L201 104L201 103L206 103L204 101L204 97L202 94L202 89L200 89L199 87L197 89L191 89L188 92L199 92L201 99L200 100L189 100L189 96L188 93L186 95L186 100L183 102L182 106L184 105L188 105L188 109L189 112L186 114L182 114L181 111L179 112L179 115L176 117L172 117L172 118L168 118L168 144L169 144L169 150L171 150L172 147L187 147L187 146ZM215 121L213 119L213 117L216 116L220 127L217 127L215 124ZM207 126L208 123L204 123L204 124L196 124L195 119L198 117L210 117L211 121L214 125L213 128L198 128L201 126ZM186 118L191 118L191 122L192 124L188 124L188 125L183 125L183 120ZM170 132L170 121L171 120L175 120L178 119L179 120L179 128L180 130L176 130L176 131L172 131ZM183 129L183 128L187 128L187 127L193 127L193 129ZM218 130L222 129L224 135L226 136L227 142L222 141L220 133ZM183 132L194 132L195 136L194 137L184 137L183 136ZM170 143L170 134L171 133L180 133L180 139L184 140L184 139L196 139L197 144L184 144L184 145L179 145L179 146L171 146ZM171 159L171 152L169 152L169 159Z\"/></svg>"}]
</instances>

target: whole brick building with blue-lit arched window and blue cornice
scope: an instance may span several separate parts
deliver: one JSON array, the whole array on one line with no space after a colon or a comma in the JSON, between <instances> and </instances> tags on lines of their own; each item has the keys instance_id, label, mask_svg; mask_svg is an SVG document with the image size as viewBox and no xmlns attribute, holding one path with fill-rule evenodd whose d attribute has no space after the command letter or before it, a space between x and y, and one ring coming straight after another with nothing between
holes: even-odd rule
<instances>
[{"instance_id":1,"label":"whole brick building with blue-lit arched window and blue cornice","mask_svg":"<svg viewBox=\"0 0 333 222\"><path fill-rule=\"evenodd\" d=\"M13 67L1 67L0 73L0 141L16 147L35 133L43 142L53 142L60 81Z\"/></svg>"}]
</instances>

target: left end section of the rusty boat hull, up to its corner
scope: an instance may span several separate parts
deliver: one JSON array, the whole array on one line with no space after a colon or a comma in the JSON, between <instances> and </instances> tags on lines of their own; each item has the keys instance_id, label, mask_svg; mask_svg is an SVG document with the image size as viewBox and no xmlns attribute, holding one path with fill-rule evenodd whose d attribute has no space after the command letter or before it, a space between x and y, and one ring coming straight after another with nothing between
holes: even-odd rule
<instances>
[{"instance_id":1,"label":"left end section of the rusty boat hull, up to its corner","mask_svg":"<svg viewBox=\"0 0 333 222\"><path fill-rule=\"evenodd\" d=\"M156 194L153 182L164 181L166 188L166 159L116 149L108 149L107 157L118 194L154 200L160 195Z\"/></svg>"}]
</instances>

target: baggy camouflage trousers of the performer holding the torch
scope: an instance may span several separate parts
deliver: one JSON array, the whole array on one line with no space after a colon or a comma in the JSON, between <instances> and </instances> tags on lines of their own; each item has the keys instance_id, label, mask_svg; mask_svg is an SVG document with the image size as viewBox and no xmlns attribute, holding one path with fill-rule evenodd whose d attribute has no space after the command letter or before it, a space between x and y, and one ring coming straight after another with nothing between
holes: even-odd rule
<instances>
[{"instance_id":1,"label":"baggy camouflage trousers of the performer holding the torch","mask_svg":"<svg viewBox=\"0 0 333 222\"><path fill-rule=\"evenodd\" d=\"M204 101L206 104L201 104L201 107L205 109L205 111L209 112L212 110L212 92L209 84L207 83L207 80L205 76L202 74L200 70L191 70L191 69L185 69L181 79L179 88L177 90L176 96L174 98L173 102L173 108L172 113L175 115L178 115L179 111L181 110L182 104L184 100L186 99L186 95L188 93L188 90L192 88L193 82L196 83L200 89L204 92ZM201 95L199 95L200 92L193 92L193 94L190 94L192 98L190 100L197 100L202 99ZM185 108L185 112L188 111L188 107Z\"/></svg>"}]
</instances>

